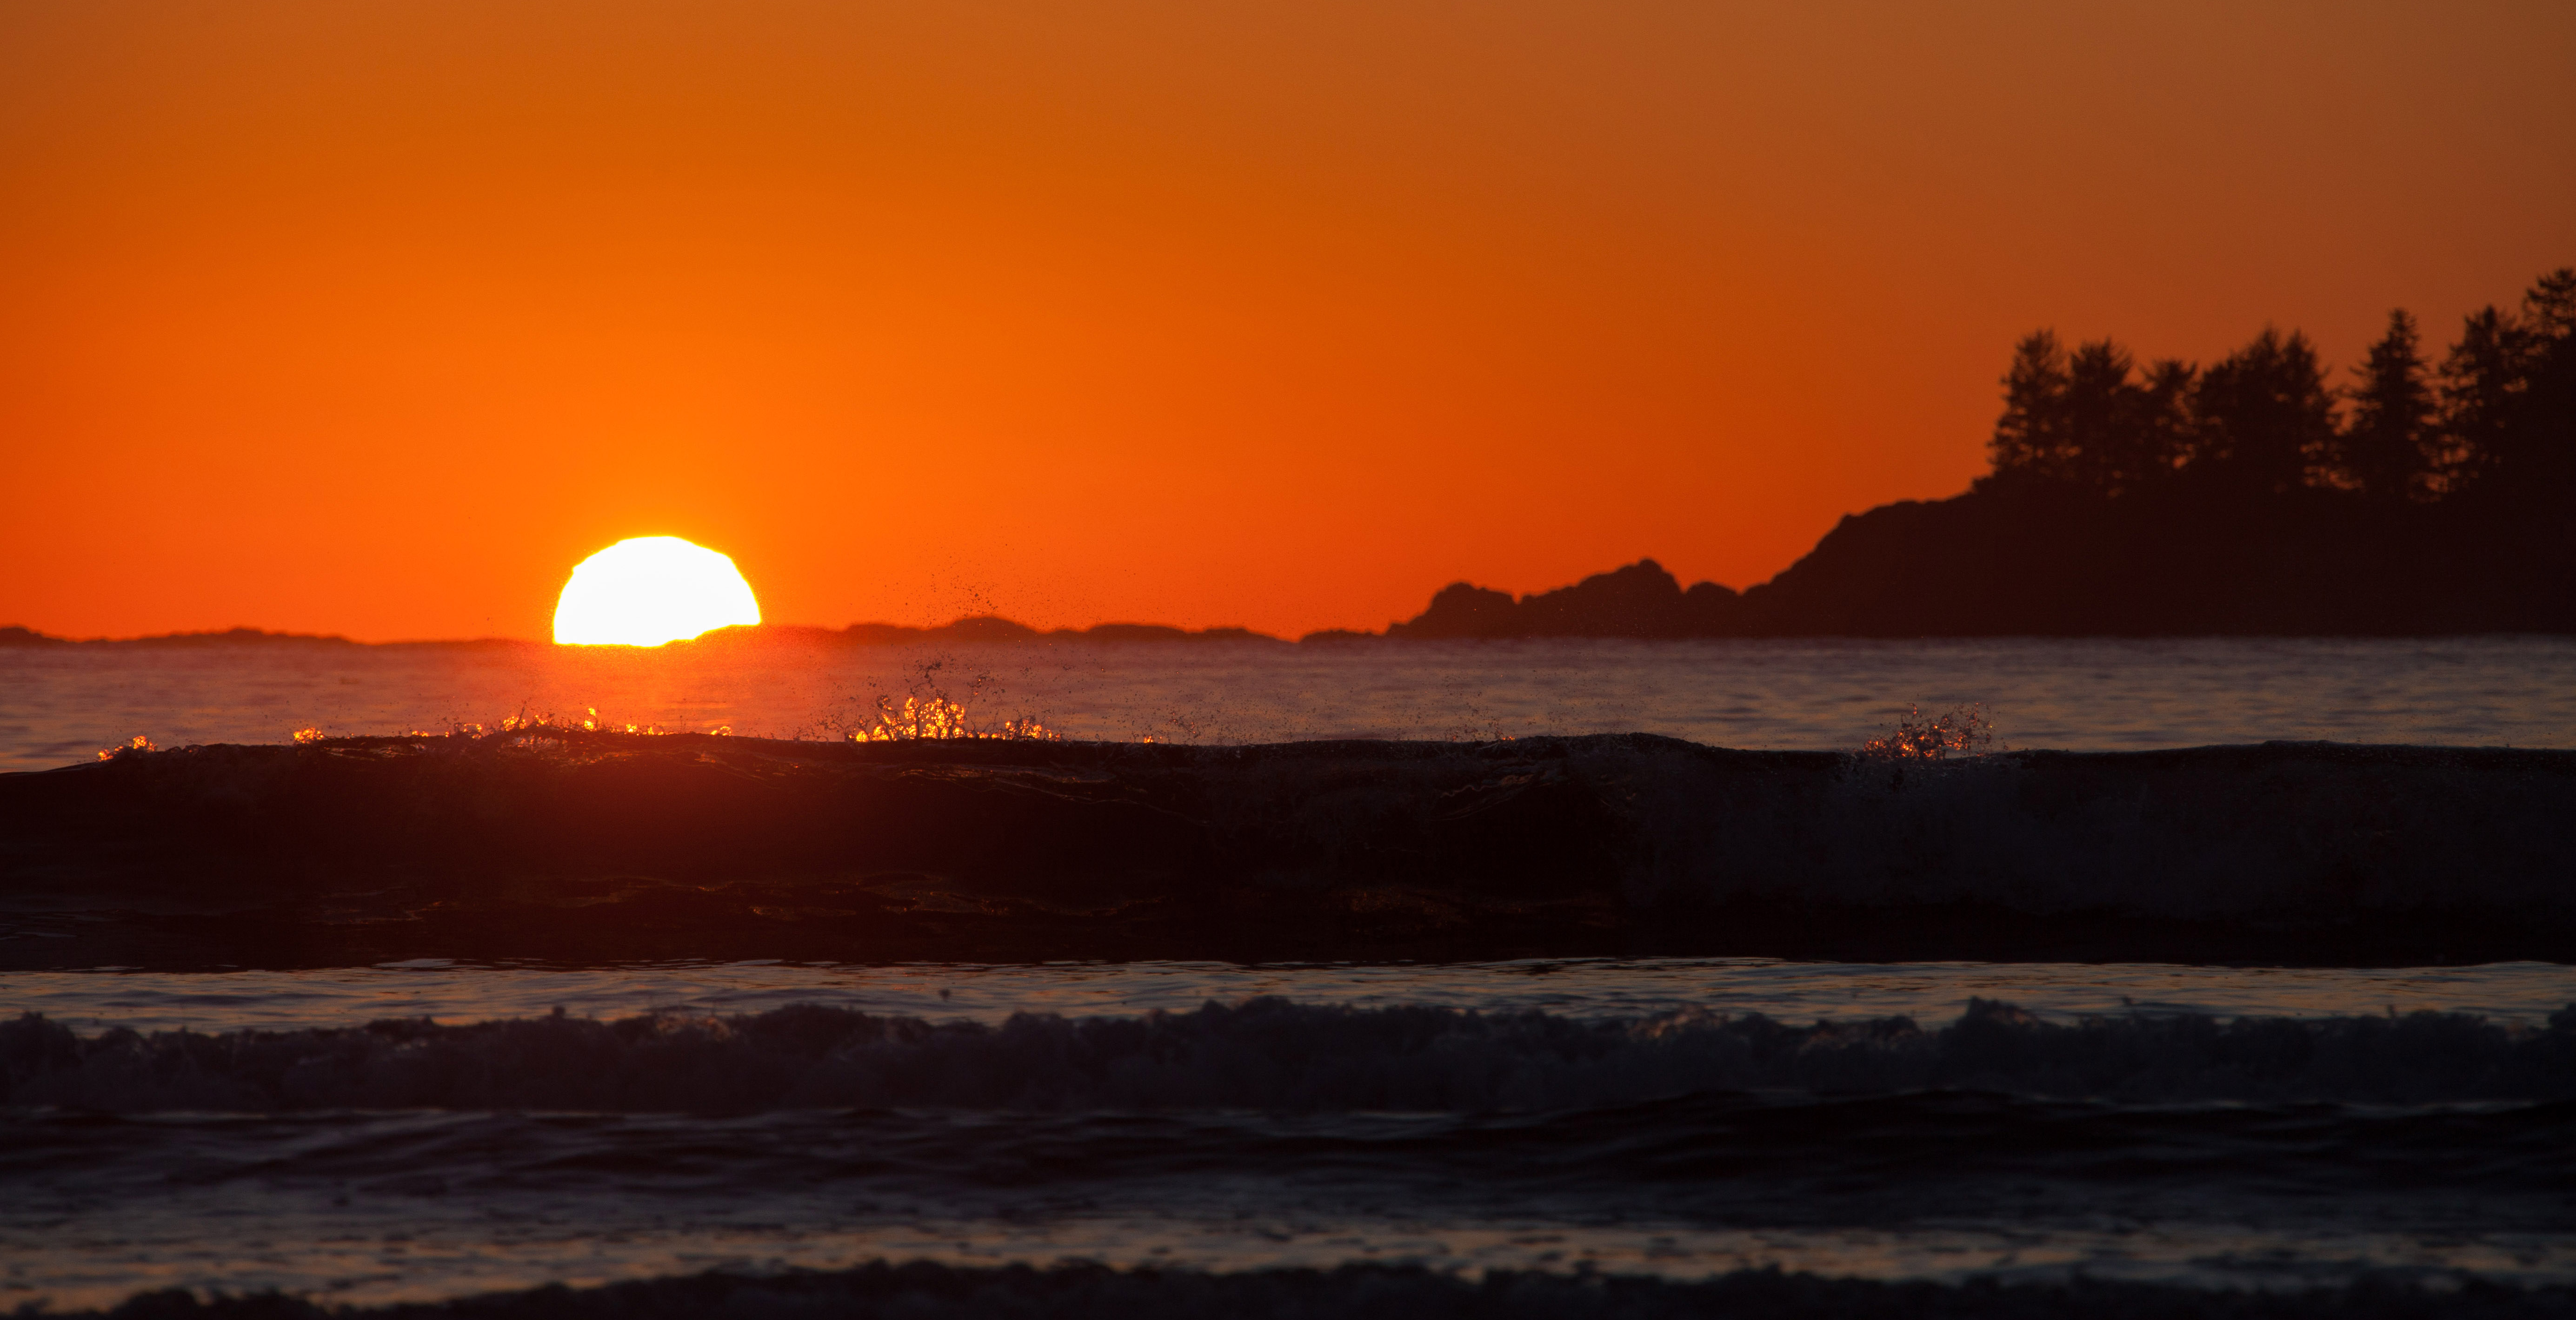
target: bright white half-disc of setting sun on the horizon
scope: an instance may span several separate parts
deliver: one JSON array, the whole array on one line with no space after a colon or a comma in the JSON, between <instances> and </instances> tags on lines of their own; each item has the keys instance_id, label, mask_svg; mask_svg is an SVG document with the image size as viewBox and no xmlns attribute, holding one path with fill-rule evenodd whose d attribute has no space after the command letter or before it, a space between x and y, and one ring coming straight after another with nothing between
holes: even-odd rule
<instances>
[{"instance_id":1,"label":"bright white half-disc of setting sun on the horizon","mask_svg":"<svg viewBox=\"0 0 2576 1320\"><path fill-rule=\"evenodd\" d=\"M675 535L639 535L585 558L554 602L556 646L662 646L760 623L734 561Z\"/></svg>"}]
</instances>

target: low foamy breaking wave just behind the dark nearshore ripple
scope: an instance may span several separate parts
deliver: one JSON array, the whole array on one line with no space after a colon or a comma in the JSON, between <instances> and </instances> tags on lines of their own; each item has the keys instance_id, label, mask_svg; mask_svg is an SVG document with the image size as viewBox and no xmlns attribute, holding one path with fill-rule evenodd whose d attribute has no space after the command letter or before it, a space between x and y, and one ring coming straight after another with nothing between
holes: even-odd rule
<instances>
[{"instance_id":1,"label":"low foamy breaking wave just behind the dark nearshore ripple","mask_svg":"<svg viewBox=\"0 0 2576 1320\"><path fill-rule=\"evenodd\" d=\"M82 1037L0 1024L0 1104L98 1112L817 1106L1540 1112L1705 1091L1922 1088L2112 1101L2576 1099L2576 1006L2548 1029L2465 1014L2050 1024L1973 1001L1953 1024L1788 1027L1708 1011L1538 1011L1255 998L999 1027L788 1006L440 1027Z\"/></svg>"}]
</instances>

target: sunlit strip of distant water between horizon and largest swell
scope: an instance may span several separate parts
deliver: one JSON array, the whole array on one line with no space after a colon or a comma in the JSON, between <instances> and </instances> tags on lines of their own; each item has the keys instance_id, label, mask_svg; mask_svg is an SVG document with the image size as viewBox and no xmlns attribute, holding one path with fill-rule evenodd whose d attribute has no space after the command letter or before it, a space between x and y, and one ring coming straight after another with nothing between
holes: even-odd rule
<instances>
[{"instance_id":1,"label":"sunlit strip of distant water between horizon and largest swell","mask_svg":"<svg viewBox=\"0 0 2576 1320\"><path fill-rule=\"evenodd\" d=\"M2264 738L2576 746L2571 638L1015 643L848 648L0 648L0 769L111 744L260 744L595 710L613 728L832 738L945 695L1066 738L1664 733L1852 749L1906 708L1986 705L2012 746Z\"/></svg>"}]
</instances>

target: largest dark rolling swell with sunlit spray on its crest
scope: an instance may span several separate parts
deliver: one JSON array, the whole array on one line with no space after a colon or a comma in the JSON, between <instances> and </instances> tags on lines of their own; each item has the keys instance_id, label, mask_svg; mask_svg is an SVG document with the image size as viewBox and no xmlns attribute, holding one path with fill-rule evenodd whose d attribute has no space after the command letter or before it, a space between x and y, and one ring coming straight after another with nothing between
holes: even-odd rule
<instances>
[{"instance_id":1,"label":"largest dark rolling swell with sunlit spray on its crest","mask_svg":"<svg viewBox=\"0 0 2576 1320\"><path fill-rule=\"evenodd\" d=\"M2576 751L544 731L0 775L0 965L2576 960Z\"/></svg>"}]
</instances>

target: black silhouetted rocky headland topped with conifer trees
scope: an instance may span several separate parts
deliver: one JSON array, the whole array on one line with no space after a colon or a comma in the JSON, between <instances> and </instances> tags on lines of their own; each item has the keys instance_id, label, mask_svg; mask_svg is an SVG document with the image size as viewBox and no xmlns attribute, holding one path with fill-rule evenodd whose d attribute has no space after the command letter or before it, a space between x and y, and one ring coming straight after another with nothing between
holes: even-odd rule
<instances>
[{"instance_id":1,"label":"black silhouetted rocky headland topped with conifer trees","mask_svg":"<svg viewBox=\"0 0 2576 1320\"><path fill-rule=\"evenodd\" d=\"M1520 600L1461 582L1388 636L2576 633L2576 270L2439 363L2391 311L2344 383L2300 332L2141 368L2043 329L1991 458L1744 594L1649 558Z\"/></svg>"}]
</instances>

